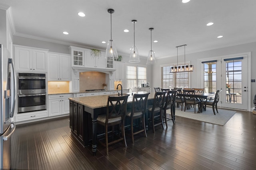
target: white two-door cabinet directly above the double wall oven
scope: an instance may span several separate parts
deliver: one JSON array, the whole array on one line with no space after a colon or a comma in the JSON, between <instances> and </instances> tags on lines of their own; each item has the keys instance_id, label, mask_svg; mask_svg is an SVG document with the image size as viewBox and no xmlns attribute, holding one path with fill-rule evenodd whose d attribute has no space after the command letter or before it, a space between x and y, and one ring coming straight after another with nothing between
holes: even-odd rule
<instances>
[{"instance_id":1,"label":"white two-door cabinet directly above the double wall oven","mask_svg":"<svg viewBox=\"0 0 256 170\"><path fill-rule=\"evenodd\" d=\"M46 49L14 45L16 71L47 72Z\"/></svg>"}]
</instances>

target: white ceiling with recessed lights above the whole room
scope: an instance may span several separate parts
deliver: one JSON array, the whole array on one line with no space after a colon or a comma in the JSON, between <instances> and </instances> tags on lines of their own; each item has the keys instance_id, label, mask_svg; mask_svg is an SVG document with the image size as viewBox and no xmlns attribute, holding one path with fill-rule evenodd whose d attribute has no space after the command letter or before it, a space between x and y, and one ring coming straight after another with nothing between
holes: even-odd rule
<instances>
[{"instance_id":1,"label":"white ceiling with recessed lights above the whole room","mask_svg":"<svg viewBox=\"0 0 256 170\"><path fill-rule=\"evenodd\" d=\"M135 45L141 57L152 50L156 59L176 56L176 46L187 44L186 54L256 41L256 0L0 0L11 6L14 35L46 39L67 45L106 49L112 39L118 53ZM85 17L78 16L84 12ZM211 26L206 26L213 22ZM125 33L123 30L130 30ZM64 35L62 32L69 34ZM222 38L217 36L223 35ZM181 49L180 49L181 50ZM184 53L183 49L179 54Z\"/></svg>"}]
</instances>

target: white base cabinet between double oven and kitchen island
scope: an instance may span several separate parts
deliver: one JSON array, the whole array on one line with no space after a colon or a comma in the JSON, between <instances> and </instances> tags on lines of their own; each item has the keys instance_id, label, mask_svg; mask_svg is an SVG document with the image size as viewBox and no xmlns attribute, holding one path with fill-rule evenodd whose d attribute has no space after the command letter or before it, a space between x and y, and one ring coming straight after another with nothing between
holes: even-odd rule
<instances>
[{"instance_id":1,"label":"white base cabinet between double oven and kitchen island","mask_svg":"<svg viewBox=\"0 0 256 170\"><path fill-rule=\"evenodd\" d=\"M73 94L49 95L48 115L56 116L69 113L69 100Z\"/></svg>"}]
</instances>

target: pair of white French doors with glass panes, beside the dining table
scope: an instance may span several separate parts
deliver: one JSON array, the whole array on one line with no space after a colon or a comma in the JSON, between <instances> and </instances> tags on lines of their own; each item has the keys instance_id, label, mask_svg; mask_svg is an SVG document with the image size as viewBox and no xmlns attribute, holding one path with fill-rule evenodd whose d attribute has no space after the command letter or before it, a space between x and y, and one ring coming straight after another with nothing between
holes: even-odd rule
<instances>
[{"instance_id":1,"label":"pair of white French doors with glass panes, beside the dining table","mask_svg":"<svg viewBox=\"0 0 256 170\"><path fill-rule=\"evenodd\" d=\"M199 60L200 88L204 87L207 93L221 89L218 103L220 107L249 110L250 53L212 57L211 59L213 60L208 61L208 58Z\"/></svg>"}]
</instances>

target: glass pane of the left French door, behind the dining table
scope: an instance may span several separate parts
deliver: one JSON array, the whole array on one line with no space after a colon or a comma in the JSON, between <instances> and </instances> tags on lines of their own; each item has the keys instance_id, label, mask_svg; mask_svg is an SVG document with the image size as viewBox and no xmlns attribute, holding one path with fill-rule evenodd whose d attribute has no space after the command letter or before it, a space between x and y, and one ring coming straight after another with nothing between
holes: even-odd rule
<instances>
[{"instance_id":1,"label":"glass pane of the left French door, behind the dining table","mask_svg":"<svg viewBox=\"0 0 256 170\"><path fill-rule=\"evenodd\" d=\"M205 61L204 64L204 90L206 93L216 92L216 63Z\"/></svg>"}]
</instances>

